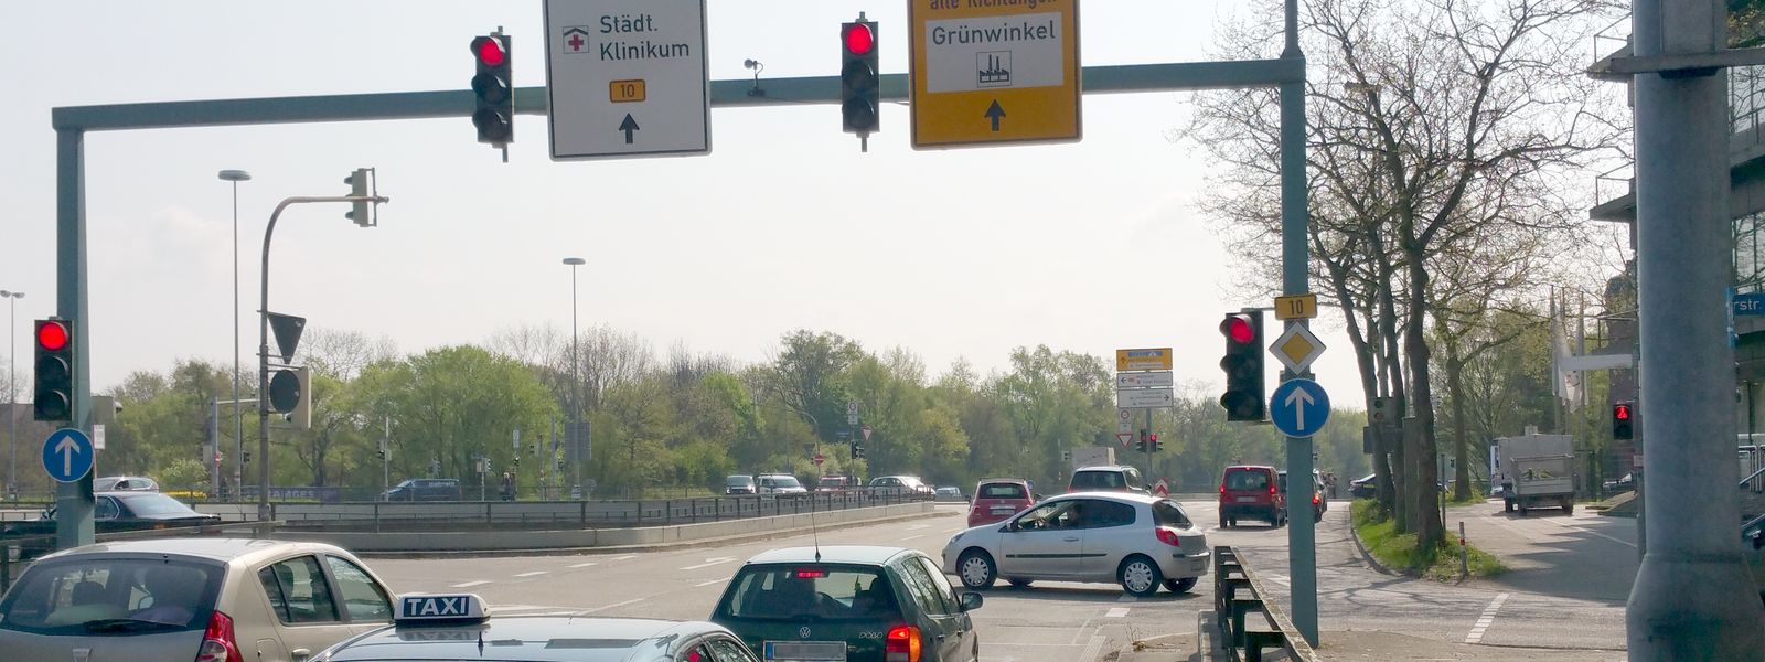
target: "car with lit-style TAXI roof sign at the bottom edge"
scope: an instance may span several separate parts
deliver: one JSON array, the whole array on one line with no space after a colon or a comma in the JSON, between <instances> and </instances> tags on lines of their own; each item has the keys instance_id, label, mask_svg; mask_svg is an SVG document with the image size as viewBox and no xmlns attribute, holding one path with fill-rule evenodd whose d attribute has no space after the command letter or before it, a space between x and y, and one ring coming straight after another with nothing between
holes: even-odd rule
<instances>
[{"instance_id":1,"label":"car with lit-style TAXI roof sign at the bottom edge","mask_svg":"<svg viewBox=\"0 0 1765 662\"><path fill-rule=\"evenodd\" d=\"M392 625L346 639L312 662L620 660L757 662L720 625L605 616L498 616L473 593L401 595Z\"/></svg>"}]
</instances>

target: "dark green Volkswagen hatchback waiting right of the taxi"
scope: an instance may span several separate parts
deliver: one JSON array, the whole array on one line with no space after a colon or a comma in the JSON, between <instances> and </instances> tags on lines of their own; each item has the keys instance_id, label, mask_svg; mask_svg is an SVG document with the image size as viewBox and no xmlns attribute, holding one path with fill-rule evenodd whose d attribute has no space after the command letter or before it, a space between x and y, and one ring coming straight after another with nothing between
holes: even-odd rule
<instances>
[{"instance_id":1,"label":"dark green Volkswagen hatchback waiting right of the taxi","mask_svg":"<svg viewBox=\"0 0 1765 662\"><path fill-rule=\"evenodd\" d=\"M711 621L762 660L967 662L980 606L918 549L791 547L736 570Z\"/></svg>"}]
</instances>

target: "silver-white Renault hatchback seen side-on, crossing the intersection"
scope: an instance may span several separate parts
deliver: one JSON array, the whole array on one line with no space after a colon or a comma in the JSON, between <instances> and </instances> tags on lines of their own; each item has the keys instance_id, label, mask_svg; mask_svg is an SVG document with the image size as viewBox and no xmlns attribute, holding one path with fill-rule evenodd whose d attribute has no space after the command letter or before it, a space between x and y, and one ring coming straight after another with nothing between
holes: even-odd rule
<instances>
[{"instance_id":1,"label":"silver-white Renault hatchback seen side-on, crossing the intersection","mask_svg":"<svg viewBox=\"0 0 1765 662\"><path fill-rule=\"evenodd\" d=\"M1207 535L1177 501L1133 493L1075 493L1036 503L997 524L957 533L943 570L985 590L995 579L1119 583L1133 595L1163 584L1184 593L1207 574Z\"/></svg>"}]
</instances>

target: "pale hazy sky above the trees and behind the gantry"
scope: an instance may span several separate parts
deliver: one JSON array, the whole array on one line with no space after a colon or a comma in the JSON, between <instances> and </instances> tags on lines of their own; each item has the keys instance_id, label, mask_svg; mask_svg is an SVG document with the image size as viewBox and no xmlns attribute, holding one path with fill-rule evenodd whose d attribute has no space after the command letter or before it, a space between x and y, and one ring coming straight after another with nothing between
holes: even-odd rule
<instances>
[{"instance_id":1,"label":"pale hazy sky above the trees and behind the gantry","mask_svg":"<svg viewBox=\"0 0 1765 662\"><path fill-rule=\"evenodd\" d=\"M838 23L881 23L884 72L907 71L907 5L710 2L713 79L831 76ZM1085 65L1204 60L1241 2L1082 5ZM28 320L55 312L56 106L462 90L468 42L503 26L521 87L545 83L542 4L526 2L4 2L9 102L0 104L0 290ZM1271 25L1271 30L1278 26ZM238 185L245 364L256 348L263 226L288 196L348 192L379 168L379 228L346 205L284 212L270 309L314 327L392 337L401 351L480 342L515 325L639 334L658 355L766 360L792 328L868 350L904 346L932 374L965 357L1003 369L1011 348L1112 355L1174 346L1177 380L1221 385L1220 314L1236 274L1193 198L1205 164L1170 139L1184 95L1084 99L1084 141L916 152L905 104L886 104L870 152L837 106L713 109L704 157L552 162L544 117L522 115L510 162L468 118L94 132L86 136L92 376L231 353ZM852 192L858 192L852 196ZM1274 321L1271 323L1271 341ZM1340 323L1317 364L1359 406ZM1274 365L1274 362L1269 362ZM19 371L28 374L28 362Z\"/></svg>"}]
</instances>

